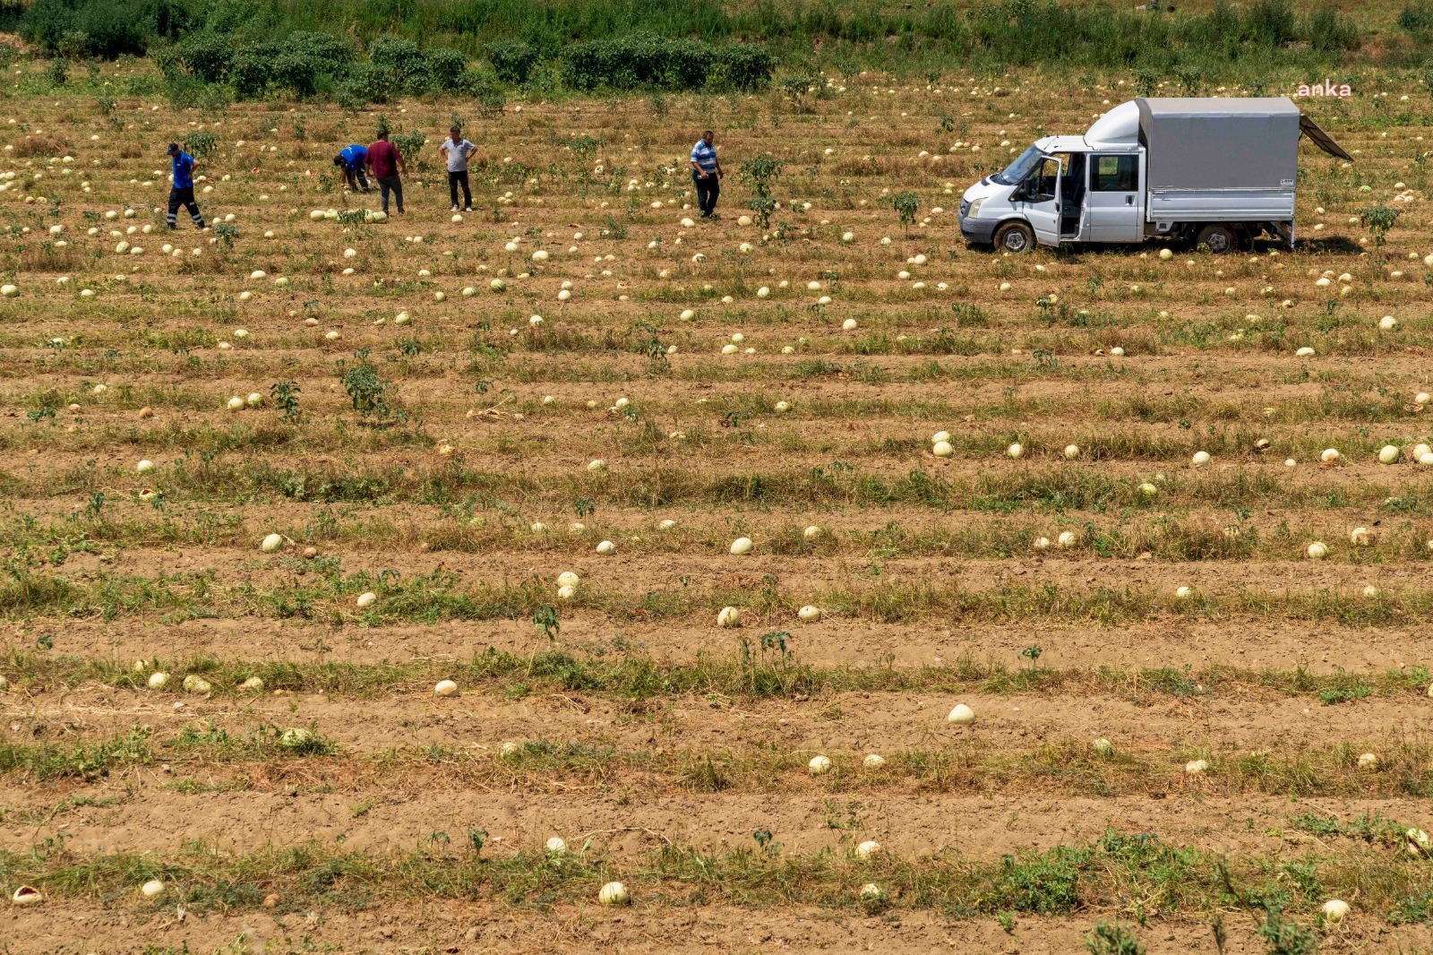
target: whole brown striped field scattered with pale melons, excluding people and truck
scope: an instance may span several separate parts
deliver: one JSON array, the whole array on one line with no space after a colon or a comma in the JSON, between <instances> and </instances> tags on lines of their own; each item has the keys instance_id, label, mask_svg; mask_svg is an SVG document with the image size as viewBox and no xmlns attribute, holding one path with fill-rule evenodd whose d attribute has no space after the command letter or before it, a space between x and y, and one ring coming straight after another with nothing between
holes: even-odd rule
<instances>
[{"instance_id":1,"label":"whole brown striped field scattered with pale melons, excluding people and truck","mask_svg":"<svg viewBox=\"0 0 1433 955\"><path fill-rule=\"evenodd\" d=\"M13 69L6 952L1433 951L1416 79L1300 100L1294 250L1010 255L1134 80Z\"/></svg>"}]
</instances>

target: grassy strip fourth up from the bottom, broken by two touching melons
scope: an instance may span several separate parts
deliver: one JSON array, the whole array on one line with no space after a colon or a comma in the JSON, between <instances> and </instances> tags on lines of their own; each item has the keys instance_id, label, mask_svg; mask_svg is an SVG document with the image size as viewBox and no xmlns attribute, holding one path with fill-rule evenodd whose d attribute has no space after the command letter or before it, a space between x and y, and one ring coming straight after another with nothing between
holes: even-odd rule
<instances>
[{"instance_id":1,"label":"grassy strip fourth up from the bottom, broken by two touching melons","mask_svg":"<svg viewBox=\"0 0 1433 955\"><path fill-rule=\"evenodd\" d=\"M305 566L307 565L307 566ZM384 627L437 624L440 621L524 621L542 629L559 629L560 614L552 585L529 578L502 585L477 581L461 585L459 576L438 568L401 578L396 571L344 575L337 558L289 559L285 569L301 571L271 585L244 582L221 586L214 571L139 576L99 574L93 579L34 572L13 561L10 578L0 581L0 614L11 618L102 618L159 615L162 622L185 619L259 617L307 619L332 627ZM307 572L305 572L307 571ZM377 595L367 609L354 609L354 598ZM1188 621L1258 617L1287 621L1336 622L1344 627L1417 624L1433 614L1433 592L1400 591L1364 597L1361 592L1281 591L1238 588L1232 592L1197 592L1179 598L1171 592L1076 589L1058 584L1002 585L973 591L929 581L906 582L876 578L866 589L828 588L801 595L780 588L780 578L721 582L696 589L679 581L641 598L616 589L583 585L567 608L596 611L622 622L691 621L711 625L724 607L755 615L748 625L797 625L797 609L813 604L827 614L880 624L941 621L954 625L1098 624L1126 627L1164 618ZM546 619L547 624L540 621Z\"/></svg>"}]
</instances>

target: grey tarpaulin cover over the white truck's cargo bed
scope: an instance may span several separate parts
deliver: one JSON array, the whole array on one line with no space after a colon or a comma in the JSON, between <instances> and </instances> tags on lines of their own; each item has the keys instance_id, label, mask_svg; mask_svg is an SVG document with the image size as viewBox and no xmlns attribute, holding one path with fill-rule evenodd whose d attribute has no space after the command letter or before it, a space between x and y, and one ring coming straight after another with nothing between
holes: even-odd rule
<instances>
[{"instance_id":1,"label":"grey tarpaulin cover over the white truck's cargo bed","mask_svg":"<svg viewBox=\"0 0 1433 955\"><path fill-rule=\"evenodd\" d=\"M1151 194L1293 194L1300 113L1287 96L1139 98L1135 103Z\"/></svg>"}]
</instances>

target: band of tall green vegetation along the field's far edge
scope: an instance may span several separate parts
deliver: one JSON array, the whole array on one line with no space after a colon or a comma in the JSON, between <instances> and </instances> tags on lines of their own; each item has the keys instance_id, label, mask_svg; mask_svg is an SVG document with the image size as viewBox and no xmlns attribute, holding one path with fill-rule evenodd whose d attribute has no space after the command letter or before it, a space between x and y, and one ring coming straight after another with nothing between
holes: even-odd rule
<instances>
[{"instance_id":1,"label":"band of tall green vegetation along the field's far edge","mask_svg":"<svg viewBox=\"0 0 1433 955\"><path fill-rule=\"evenodd\" d=\"M497 75L514 83L527 82L539 59L580 60L588 67L618 60L613 76L626 82L641 70L620 60L641 60L639 47L651 44L612 37L633 32L666 37L665 53L676 63L658 70L655 80L666 85L679 82L671 77L681 77L684 65L694 56L688 49L691 40L681 37L702 37L711 44L708 75L722 72L728 59L752 60L729 65L731 73L744 73L744 66L759 67L761 53L731 46L735 39L754 36L801 59L820 47L853 62L886 62L893 56L898 60L921 53L990 65L1154 66L1174 59L1231 62L1271 52L1336 62L1343 52L1360 47L1358 30L1344 9L1348 4L1336 0L1242 0L1201 10L1154 1L1142 6L1146 9L1059 0L976 4L969 0L927 0L923 4L886 0L788 4L721 0L0 0L0 23L19 19L24 39L49 53L76 56L142 53L203 30L241 33L252 42L299 30L354 34L365 40L387 32L469 52L487 44ZM1178 9L1171 11L1171 6ZM1380 34L1373 59L1407 56L1410 47L1426 50L1433 44L1433 0L1409 0L1401 13L1389 9L1384 19L1391 22L1391 29ZM613 43L618 49L609 46ZM579 75L592 72L583 69ZM599 77L596 82L606 80Z\"/></svg>"}]
</instances>

